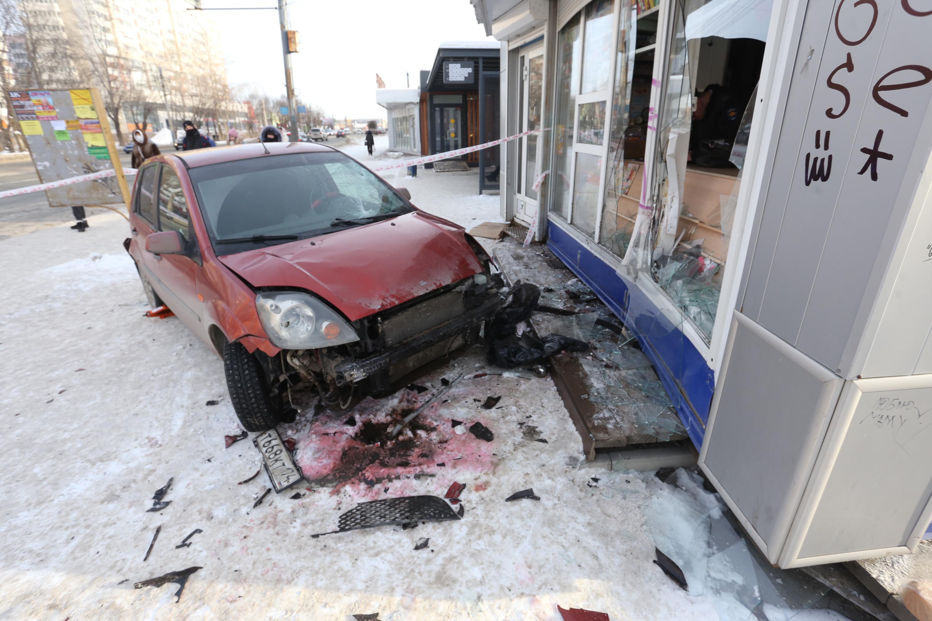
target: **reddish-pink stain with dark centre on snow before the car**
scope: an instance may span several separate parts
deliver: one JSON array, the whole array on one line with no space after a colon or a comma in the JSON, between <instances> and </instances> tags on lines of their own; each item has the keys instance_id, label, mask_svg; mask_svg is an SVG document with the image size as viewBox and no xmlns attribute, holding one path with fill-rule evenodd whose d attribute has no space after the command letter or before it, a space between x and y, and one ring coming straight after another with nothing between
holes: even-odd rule
<instances>
[{"instance_id":1,"label":"reddish-pink stain with dark centre on snow before the car","mask_svg":"<svg viewBox=\"0 0 932 621\"><path fill-rule=\"evenodd\" d=\"M460 456L459 471L491 470L494 447L473 435L456 435L441 404L432 404L391 438L395 424L429 396L403 390L385 399L367 398L353 410L353 426L346 424L345 413L322 412L308 434L296 438L295 459L305 478L335 486L334 493L346 488L354 496L377 497L382 490L377 483L444 473L448 469L439 470L437 463Z\"/></svg>"}]
</instances>

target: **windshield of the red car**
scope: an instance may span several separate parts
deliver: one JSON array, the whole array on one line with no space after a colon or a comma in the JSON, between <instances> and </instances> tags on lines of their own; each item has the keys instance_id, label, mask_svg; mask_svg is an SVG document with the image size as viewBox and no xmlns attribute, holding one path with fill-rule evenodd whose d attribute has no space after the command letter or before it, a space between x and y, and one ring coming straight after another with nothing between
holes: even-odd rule
<instances>
[{"instance_id":1,"label":"windshield of the red car","mask_svg":"<svg viewBox=\"0 0 932 621\"><path fill-rule=\"evenodd\" d=\"M332 226L341 219L413 211L375 173L339 152L239 159L188 174L215 242L310 237L342 229ZM224 246L224 254L236 250Z\"/></svg>"}]
</instances>

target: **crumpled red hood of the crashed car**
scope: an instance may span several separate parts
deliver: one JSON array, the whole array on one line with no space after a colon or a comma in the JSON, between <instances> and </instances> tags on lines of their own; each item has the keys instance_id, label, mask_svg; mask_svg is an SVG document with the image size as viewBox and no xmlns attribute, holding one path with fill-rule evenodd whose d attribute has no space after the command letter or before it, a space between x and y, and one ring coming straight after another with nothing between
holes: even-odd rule
<instances>
[{"instance_id":1,"label":"crumpled red hood of the crashed car","mask_svg":"<svg viewBox=\"0 0 932 621\"><path fill-rule=\"evenodd\" d=\"M463 231L413 212L218 259L254 287L306 289L355 321L481 272Z\"/></svg>"}]
</instances>

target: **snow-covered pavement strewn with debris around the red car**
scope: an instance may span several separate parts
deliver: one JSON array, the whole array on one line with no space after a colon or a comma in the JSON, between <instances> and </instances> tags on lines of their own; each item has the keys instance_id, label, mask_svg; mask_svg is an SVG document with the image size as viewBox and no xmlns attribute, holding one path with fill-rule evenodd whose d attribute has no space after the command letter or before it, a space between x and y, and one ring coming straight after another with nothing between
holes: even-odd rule
<instances>
[{"instance_id":1,"label":"snow-covered pavement strewn with debris around the red car","mask_svg":"<svg viewBox=\"0 0 932 621\"><path fill-rule=\"evenodd\" d=\"M477 195L474 172L387 177L409 187L418 206L467 228L499 219L498 197ZM555 621L557 604L613 621L718 618L714 589L690 595L651 562L645 512L670 486L652 475L580 469L579 435L549 378L463 380L424 417L423 433L415 430L425 451L443 440L442 454L391 464L394 473L377 476L402 477L375 486L344 472L336 487L302 482L254 507L267 479L238 484L260 458L249 440L225 449L224 435L239 426L223 364L176 318L143 316L143 289L120 245L127 235L125 220L102 214L83 234L64 226L0 241L0 619L351 620L378 612L383 621ZM295 438L297 462L311 470L321 466L322 434L345 427L349 442L363 420L417 404L441 378L484 371L500 369L475 349L420 380L428 392L363 403L355 425L328 413L312 421L310 408L280 432ZM497 408L474 401L489 395L501 395ZM205 405L211 400L219 404ZM449 419L482 421L495 438L456 435ZM169 477L171 504L147 513ZM459 521L309 536L336 529L359 501L443 496L453 481L466 486ZM504 502L526 488L541 500ZM295 491L303 497L290 499ZM709 510L701 490L684 493ZM195 529L203 532L190 547L175 547ZM414 550L424 537L429 546ZM133 588L192 566L202 569L178 603L174 585ZM791 613L773 614L770 621Z\"/></svg>"}]
</instances>

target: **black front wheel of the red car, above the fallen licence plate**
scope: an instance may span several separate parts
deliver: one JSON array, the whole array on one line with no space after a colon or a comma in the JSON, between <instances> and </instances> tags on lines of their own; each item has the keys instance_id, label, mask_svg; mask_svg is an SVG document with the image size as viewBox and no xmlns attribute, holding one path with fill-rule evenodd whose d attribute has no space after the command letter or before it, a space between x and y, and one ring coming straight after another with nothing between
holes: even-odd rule
<instances>
[{"instance_id":1,"label":"black front wheel of the red car, above the fallen licence plate","mask_svg":"<svg viewBox=\"0 0 932 621\"><path fill-rule=\"evenodd\" d=\"M240 342L224 343L224 370L226 390L243 429L261 432L281 422L281 397L271 396L265 371Z\"/></svg>"}]
</instances>

